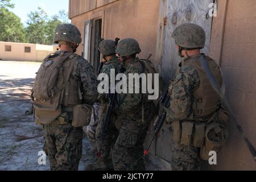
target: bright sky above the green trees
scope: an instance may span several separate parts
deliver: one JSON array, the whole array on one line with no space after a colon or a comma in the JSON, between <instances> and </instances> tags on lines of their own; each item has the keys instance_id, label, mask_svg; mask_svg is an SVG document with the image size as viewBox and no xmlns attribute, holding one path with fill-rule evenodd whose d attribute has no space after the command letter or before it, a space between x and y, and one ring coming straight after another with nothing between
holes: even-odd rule
<instances>
[{"instance_id":1,"label":"bright sky above the green trees","mask_svg":"<svg viewBox=\"0 0 256 182\"><path fill-rule=\"evenodd\" d=\"M15 8L11 11L20 17L22 23L26 25L27 14L35 11L38 6L42 7L49 17L58 13L59 10L68 11L68 0L12 0Z\"/></svg>"}]
</instances>

